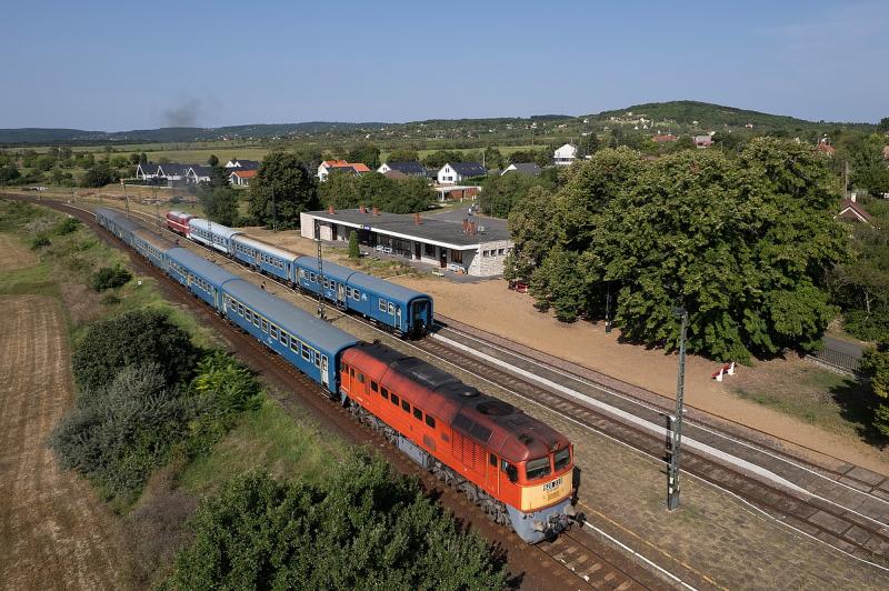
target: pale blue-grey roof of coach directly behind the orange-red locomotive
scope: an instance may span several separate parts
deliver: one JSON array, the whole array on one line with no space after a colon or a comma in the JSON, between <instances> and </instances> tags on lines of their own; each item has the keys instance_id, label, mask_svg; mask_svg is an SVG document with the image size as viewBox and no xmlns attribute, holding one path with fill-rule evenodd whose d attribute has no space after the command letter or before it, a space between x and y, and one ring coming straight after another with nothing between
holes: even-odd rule
<instances>
[{"instance_id":1,"label":"pale blue-grey roof of coach directly behind the orange-red locomotive","mask_svg":"<svg viewBox=\"0 0 889 591\"><path fill-rule=\"evenodd\" d=\"M243 279L234 279L227 282L222 290L241 303L250 305L250 308L266 315L300 340L321 349L326 354L337 354L342 349L358 342L358 339L348 332L328 324L323 320L257 288Z\"/></svg>"}]
</instances>

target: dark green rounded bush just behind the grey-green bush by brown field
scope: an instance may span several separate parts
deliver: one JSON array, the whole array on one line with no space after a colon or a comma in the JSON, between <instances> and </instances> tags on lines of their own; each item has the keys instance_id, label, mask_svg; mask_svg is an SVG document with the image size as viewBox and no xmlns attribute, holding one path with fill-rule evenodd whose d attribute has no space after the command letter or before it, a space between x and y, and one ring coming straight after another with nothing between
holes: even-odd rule
<instances>
[{"instance_id":1,"label":"dark green rounded bush just behind the grey-green bush by brown field","mask_svg":"<svg viewBox=\"0 0 889 591\"><path fill-rule=\"evenodd\" d=\"M83 390L110 383L132 364L156 363L168 383L191 374L196 349L166 313L138 310L93 323L74 351L74 379Z\"/></svg>"}]
</instances>

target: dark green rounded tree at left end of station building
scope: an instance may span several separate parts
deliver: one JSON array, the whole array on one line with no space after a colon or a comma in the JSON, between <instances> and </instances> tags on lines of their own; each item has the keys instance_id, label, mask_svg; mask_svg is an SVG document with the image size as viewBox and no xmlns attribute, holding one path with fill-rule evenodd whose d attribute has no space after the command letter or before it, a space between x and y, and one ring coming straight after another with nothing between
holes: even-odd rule
<instances>
[{"instance_id":1,"label":"dark green rounded tree at left end of station building","mask_svg":"<svg viewBox=\"0 0 889 591\"><path fill-rule=\"evenodd\" d=\"M296 154L272 152L250 184L250 216L262 226L297 228L299 214L318 207L318 184Z\"/></svg>"}]
</instances>

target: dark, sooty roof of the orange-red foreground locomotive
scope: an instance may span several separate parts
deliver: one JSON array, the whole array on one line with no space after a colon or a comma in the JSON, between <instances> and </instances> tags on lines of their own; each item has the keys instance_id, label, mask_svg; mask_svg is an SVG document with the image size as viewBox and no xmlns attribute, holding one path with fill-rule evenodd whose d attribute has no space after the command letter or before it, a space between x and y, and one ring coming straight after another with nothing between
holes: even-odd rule
<instances>
[{"instance_id":1,"label":"dark, sooty roof of the orange-red foreground locomotive","mask_svg":"<svg viewBox=\"0 0 889 591\"><path fill-rule=\"evenodd\" d=\"M440 407L452 411L449 419L456 431L510 462L542 458L568 444L565 435L542 421L508 402L479 392L421 359L404 355L378 342L359 343L356 349L440 397Z\"/></svg>"}]
</instances>

